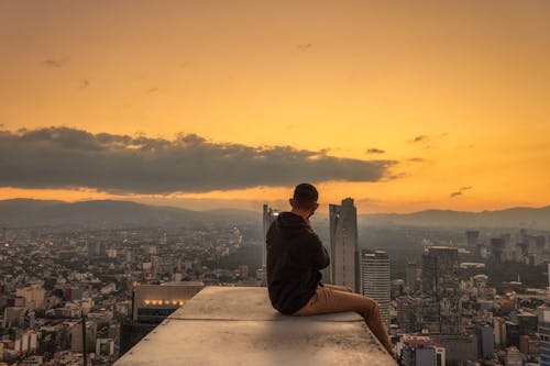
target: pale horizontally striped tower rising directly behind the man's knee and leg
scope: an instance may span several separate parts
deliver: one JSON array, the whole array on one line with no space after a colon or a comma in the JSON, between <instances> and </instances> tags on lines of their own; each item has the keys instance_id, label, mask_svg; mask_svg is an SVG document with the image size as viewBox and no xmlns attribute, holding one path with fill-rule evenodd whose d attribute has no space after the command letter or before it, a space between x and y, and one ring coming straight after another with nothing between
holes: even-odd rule
<instances>
[{"instance_id":1,"label":"pale horizontally striped tower rising directly behind the man's knee and leg","mask_svg":"<svg viewBox=\"0 0 550 366\"><path fill-rule=\"evenodd\" d=\"M378 302L382 319L389 325L389 257L386 252L361 249L361 293Z\"/></svg>"}]
</instances>

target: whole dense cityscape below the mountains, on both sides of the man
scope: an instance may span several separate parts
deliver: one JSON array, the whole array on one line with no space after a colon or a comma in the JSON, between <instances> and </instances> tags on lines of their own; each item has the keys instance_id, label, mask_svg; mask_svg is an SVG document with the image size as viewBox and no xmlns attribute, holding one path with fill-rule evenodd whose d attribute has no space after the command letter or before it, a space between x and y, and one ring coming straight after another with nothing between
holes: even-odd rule
<instances>
[{"instance_id":1,"label":"whole dense cityscape below the mountains, on both sides of the man","mask_svg":"<svg viewBox=\"0 0 550 366\"><path fill-rule=\"evenodd\" d=\"M263 210L265 233L278 211ZM0 365L112 365L205 286L265 286L260 217L196 229L3 229ZM548 232L454 230L446 241L403 228L418 246L399 251L361 240L353 199L331 204L328 221L318 222L331 254L323 278L378 301L402 365L548 362L550 292L530 282L548 278ZM514 278L492 279L504 268Z\"/></svg>"}]
</instances>

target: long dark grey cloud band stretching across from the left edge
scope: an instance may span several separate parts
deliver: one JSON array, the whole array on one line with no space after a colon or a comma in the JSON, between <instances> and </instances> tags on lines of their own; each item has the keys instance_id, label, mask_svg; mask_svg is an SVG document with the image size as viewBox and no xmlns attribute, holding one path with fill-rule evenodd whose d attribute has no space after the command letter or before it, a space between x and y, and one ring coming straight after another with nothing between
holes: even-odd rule
<instances>
[{"instance_id":1,"label":"long dark grey cloud band stretching across from the left edge","mask_svg":"<svg viewBox=\"0 0 550 366\"><path fill-rule=\"evenodd\" d=\"M206 192L299 181L377 181L396 162L339 158L289 146L92 134L68 127L0 132L0 186L110 192Z\"/></svg>"}]
</instances>

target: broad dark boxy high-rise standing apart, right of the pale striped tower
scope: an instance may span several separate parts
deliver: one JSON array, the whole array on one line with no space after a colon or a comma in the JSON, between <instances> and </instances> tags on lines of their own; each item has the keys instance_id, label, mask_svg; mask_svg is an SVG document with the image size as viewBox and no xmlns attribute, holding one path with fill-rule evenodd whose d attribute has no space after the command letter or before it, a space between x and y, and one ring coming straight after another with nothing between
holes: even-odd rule
<instances>
[{"instance_id":1,"label":"broad dark boxy high-rise standing apart, right of the pale striped tower","mask_svg":"<svg viewBox=\"0 0 550 366\"><path fill-rule=\"evenodd\" d=\"M431 246L422 255L422 292L439 303L440 333L459 334L460 318L459 251Z\"/></svg>"}]
</instances>

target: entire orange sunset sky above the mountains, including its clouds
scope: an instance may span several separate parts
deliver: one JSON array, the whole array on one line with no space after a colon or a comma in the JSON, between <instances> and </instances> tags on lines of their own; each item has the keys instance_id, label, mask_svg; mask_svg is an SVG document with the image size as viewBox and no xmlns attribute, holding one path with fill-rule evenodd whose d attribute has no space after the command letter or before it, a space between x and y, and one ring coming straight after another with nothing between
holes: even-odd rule
<instances>
[{"instance_id":1,"label":"entire orange sunset sky above the mountains, including its clouds","mask_svg":"<svg viewBox=\"0 0 550 366\"><path fill-rule=\"evenodd\" d=\"M547 0L0 0L0 198L284 209L312 181L360 213L547 206L549 20Z\"/></svg>"}]
</instances>

